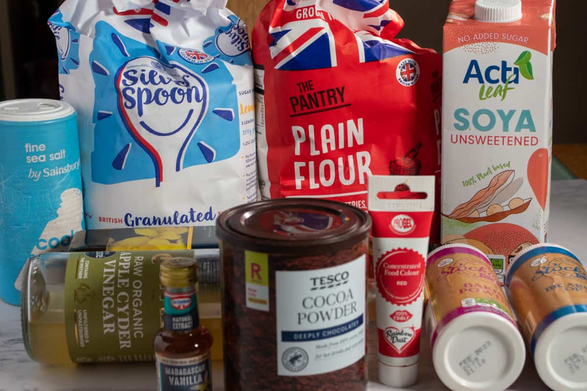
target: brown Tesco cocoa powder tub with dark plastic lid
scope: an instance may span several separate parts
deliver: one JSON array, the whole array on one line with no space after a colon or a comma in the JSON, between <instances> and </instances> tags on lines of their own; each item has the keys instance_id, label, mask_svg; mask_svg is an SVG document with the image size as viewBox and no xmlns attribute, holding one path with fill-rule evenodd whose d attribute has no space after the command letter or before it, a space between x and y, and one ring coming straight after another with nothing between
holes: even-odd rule
<instances>
[{"instance_id":1,"label":"brown Tesco cocoa powder tub with dark plastic lid","mask_svg":"<svg viewBox=\"0 0 587 391\"><path fill-rule=\"evenodd\" d=\"M365 390L371 219L270 200L218 218L228 390Z\"/></svg>"}]
</instances>

